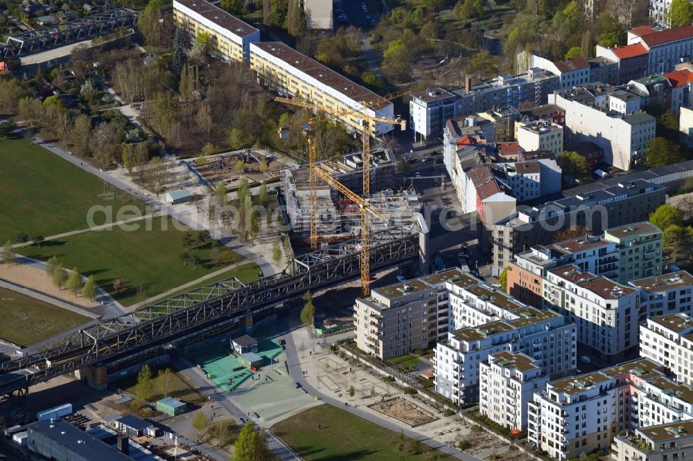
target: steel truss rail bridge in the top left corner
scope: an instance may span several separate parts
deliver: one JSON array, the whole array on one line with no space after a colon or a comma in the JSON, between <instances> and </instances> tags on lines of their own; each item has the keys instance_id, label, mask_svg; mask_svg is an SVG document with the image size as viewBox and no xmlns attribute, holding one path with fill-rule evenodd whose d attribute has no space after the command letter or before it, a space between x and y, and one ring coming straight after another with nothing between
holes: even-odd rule
<instances>
[{"instance_id":1,"label":"steel truss rail bridge in the top left corner","mask_svg":"<svg viewBox=\"0 0 693 461\"><path fill-rule=\"evenodd\" d=\"M115 8L81 19L73 19L64 24L27 30L17 35L10 35L6 44L0 44L0 55L19 57L97 37L119 28L134 26L138 16L137 11Z\"/></svg>"}]
</instances>

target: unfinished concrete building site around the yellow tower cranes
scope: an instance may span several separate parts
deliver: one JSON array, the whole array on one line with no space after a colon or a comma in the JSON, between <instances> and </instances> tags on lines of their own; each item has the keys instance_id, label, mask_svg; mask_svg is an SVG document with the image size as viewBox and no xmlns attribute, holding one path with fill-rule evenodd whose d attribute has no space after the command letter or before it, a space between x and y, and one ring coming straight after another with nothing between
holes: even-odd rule
<instances>
[{"instance_id":1,"label":"unfinished concrete building site around the yellow tower cranes","mask_svg":"<svg viewBox=\"0 0 693 461\"><path fill-rule=\"evenodd\" d=\"M360 152L319 163L320 168L351 190L362 188L362 156ZM421 203L416 192L394 190L396 168L387 150L371 153L371 197L368 202L381 218L369 215L373 243L404 237L419 231L416 213ZM342 242L360 235L360 206L344 197L323 181L317 181L317 233L320 242ZM310 178L308 168L284 172L282 195L291 236L297 242L310 237Z\"/></svg>"}]
</instances>

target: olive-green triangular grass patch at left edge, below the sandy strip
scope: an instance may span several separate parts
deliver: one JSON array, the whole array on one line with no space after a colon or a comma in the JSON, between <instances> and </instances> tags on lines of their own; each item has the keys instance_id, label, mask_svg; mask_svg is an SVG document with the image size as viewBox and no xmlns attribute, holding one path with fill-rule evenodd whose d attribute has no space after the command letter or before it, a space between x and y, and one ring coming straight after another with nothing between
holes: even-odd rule
<instances>
[{"instance_id":1,"label":"olive-green triangular grass patch at left edge, below the sandy strip","mask_svg":"<svg viewBox=\"0 0 693 461\"><path fill-rule=\"evenodd\" d=\"M0 338L30 345L91 320L67 309L0 287Z\"/></svg>"}]
</instances>

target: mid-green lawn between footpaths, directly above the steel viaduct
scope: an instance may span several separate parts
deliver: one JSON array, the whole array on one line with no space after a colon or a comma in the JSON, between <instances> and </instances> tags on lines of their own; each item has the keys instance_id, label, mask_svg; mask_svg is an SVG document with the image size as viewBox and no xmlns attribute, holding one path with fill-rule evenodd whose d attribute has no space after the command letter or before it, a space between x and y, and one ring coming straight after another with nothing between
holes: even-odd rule
<instances>
[{"instance_id":1,"label":"mid-green lawn between footpaths, directly above the steel viaduct","mask_svg":"<svg viewBox=\"0 0 693 461\"><path fill-rule=\"evenodd\" d=\"M162 222L166 223L167 230L162 230ZM147 230L145 221L139 224L137 230L130 232L116 227L81 233L46 242L40 248L27 246L18 253L40 260L58 256L65 267L76 266L81 273L94 275L99 286L123 305L139 302L140 288L149 298L243 259L238 253L222 247L222 261L215 266L213 249L207 244L197 252L201 264L194 269L192 264L184 265L180 260L185 251L182 246L184 231L174 228L173 219L152 219L151 230ZM113 290L116 279L123 282L119 293Z\"/></svg>"}]
</instances>

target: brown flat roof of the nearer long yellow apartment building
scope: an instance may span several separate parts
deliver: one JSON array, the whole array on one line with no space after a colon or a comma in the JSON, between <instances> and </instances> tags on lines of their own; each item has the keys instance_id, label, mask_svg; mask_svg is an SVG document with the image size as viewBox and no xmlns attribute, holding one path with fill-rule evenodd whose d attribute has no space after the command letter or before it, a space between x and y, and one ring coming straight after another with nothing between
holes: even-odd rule
<instances>
[{"instance_id":1,"label":"brown flat roof of the nearer long yellow apartment building","mask_svg":"<svg viewBox=\"0 0 693 461\"><path fill-rule=\"evenodd\" d=\"M344 75L329 69L282 42L255 42L251 44L251 46L260 48L265 53L286 62L286 64L289 64L298 71L310 75L310 77L315 78L315 80L335 89L335 91L339 91L352 100L370 103L373 109L380 109L381 107L392 104L392 102L389 102L385 98L381 98L373 91L352 82L344 77Z\"/></svg>"}]
</instances>

